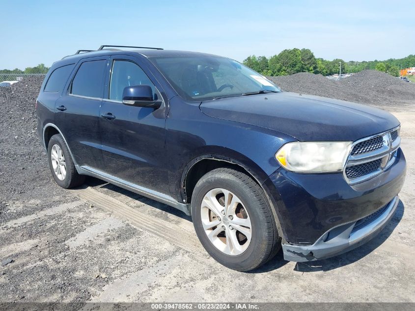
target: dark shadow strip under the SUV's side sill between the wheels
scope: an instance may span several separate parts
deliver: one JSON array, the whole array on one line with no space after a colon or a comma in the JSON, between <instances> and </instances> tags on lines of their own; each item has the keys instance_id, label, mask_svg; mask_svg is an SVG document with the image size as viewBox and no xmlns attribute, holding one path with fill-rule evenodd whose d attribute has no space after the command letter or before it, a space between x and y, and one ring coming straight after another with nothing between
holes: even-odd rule
<instances>
[{"instance_id":1,"label":"dark shadow strip under the SUV's side sill between the wheels","mask_svg":"<svg viewBox=\"0 0 415 311\"><path fill-rule=\"evenodd\" d=\"M105 190L109 190L111 192L115 192L115 193L120 194L120 195L124 195L126 197L129 197L129 198L132 198L132 199L137 200L139 202L150 205L151 207L157 208L157 209L159 209L163 212L166 212L166 213L169 213L171 215L180 217L180 218L188 220L190 222L192 221L191 216L186 215L184 212L178 210L177 208L168 206L164 203L160 203L160 202L155 201L151 198L146 198L146 197L140 196L140 195L138 195L138 194L136 194L132 191L129 191L129 190L126 190L124 188L121 188L121 187L115 186L113 184L107 183L104 180L88 176L86 181L85 181L85 187L88 187L88 186L90 186L90 187L99 187L99 188L102 188L102 189L105 189Z\"/></svg>"}]
</instances>

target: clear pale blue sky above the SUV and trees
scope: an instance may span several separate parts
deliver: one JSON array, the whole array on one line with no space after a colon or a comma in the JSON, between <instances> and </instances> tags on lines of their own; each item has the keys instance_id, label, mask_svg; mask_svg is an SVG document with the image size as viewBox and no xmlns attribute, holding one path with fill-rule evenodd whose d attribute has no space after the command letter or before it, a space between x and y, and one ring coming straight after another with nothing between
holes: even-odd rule
<instances>
[{"instance_id":1,"label":"clear pale blue sky above the SUV and trees","mask_svg":"<svg viewBox=\"0 0 415 311\"><path fill-rule=\"evenodd\" d=\"M50 66L101 44L199 51L239 61L295 47L346 61L415 54L412 0L1 2L0 69Z\"/></svg>"}]
</instances>

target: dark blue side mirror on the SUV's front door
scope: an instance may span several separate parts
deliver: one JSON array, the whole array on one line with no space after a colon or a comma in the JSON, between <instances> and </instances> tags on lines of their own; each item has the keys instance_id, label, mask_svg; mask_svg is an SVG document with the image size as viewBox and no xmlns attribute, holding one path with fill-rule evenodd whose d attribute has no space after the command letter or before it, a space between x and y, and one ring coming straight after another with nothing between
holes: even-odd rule
<instances>
[{"instance_id":1,"label":"dark blue side mirror on the SUV's front door","mask_svg":"<svg viewBox=\"0 0 415 311\"><path fill-rule=\"evenodd\" d=\"M162 102L153 99L153 90L149 85L133 85L124 87L122 103L128 106L160 108Z\"/></svg>"}]
</instances>

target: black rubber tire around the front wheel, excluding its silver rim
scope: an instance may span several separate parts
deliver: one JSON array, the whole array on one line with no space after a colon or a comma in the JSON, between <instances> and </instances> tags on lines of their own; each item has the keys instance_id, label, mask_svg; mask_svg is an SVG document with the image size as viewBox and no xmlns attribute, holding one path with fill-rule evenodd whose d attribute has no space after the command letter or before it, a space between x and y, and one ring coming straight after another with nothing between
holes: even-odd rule
<instances>
[{"instance_id":1,"label":"black rubber tire around the front wheel, excluding its silver rim","mask_svg":"<svg viewBox=\"0 0 415 311\"><path fill-rule=\"evenodd\" d=\"M267 235L266 220L259 211L258 198L253 198L254 191L252 188L232 177L230 174L202 177L196 184L192 196L192 219L201 244L215 260L228 268L247 271L251 269L250 267L259 265L261 255L266 251L267 247L264 238ZM241 199L248 212L252 236L247 250L242 254L232 256L222 253L212 244L204 232L200 216L200 206L205 194L215 188L222 188L232 192Z\"/></svg>"}]
</instances>

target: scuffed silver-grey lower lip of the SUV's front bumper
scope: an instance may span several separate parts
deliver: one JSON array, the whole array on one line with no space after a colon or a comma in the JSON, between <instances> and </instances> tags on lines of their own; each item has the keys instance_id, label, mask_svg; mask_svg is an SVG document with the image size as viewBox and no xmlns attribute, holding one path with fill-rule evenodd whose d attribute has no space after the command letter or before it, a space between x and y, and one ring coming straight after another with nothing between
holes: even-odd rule
<instances>
[{"instance_id":1,"label":"scuffed silver-grey lower lip of the SUV's front bumper","mask_svg":"<svg viewBox=\"0 0 415 311\"><path fill-rule=\"evenodd\" d=\"M398 203L399 198L396 196L375 213L361 220L332 228L312 245L301 246L284 243L282 244L284 259L313 261L353 250L372 239L387 225L395 214Z\"/></svg>"}]
</instances>

